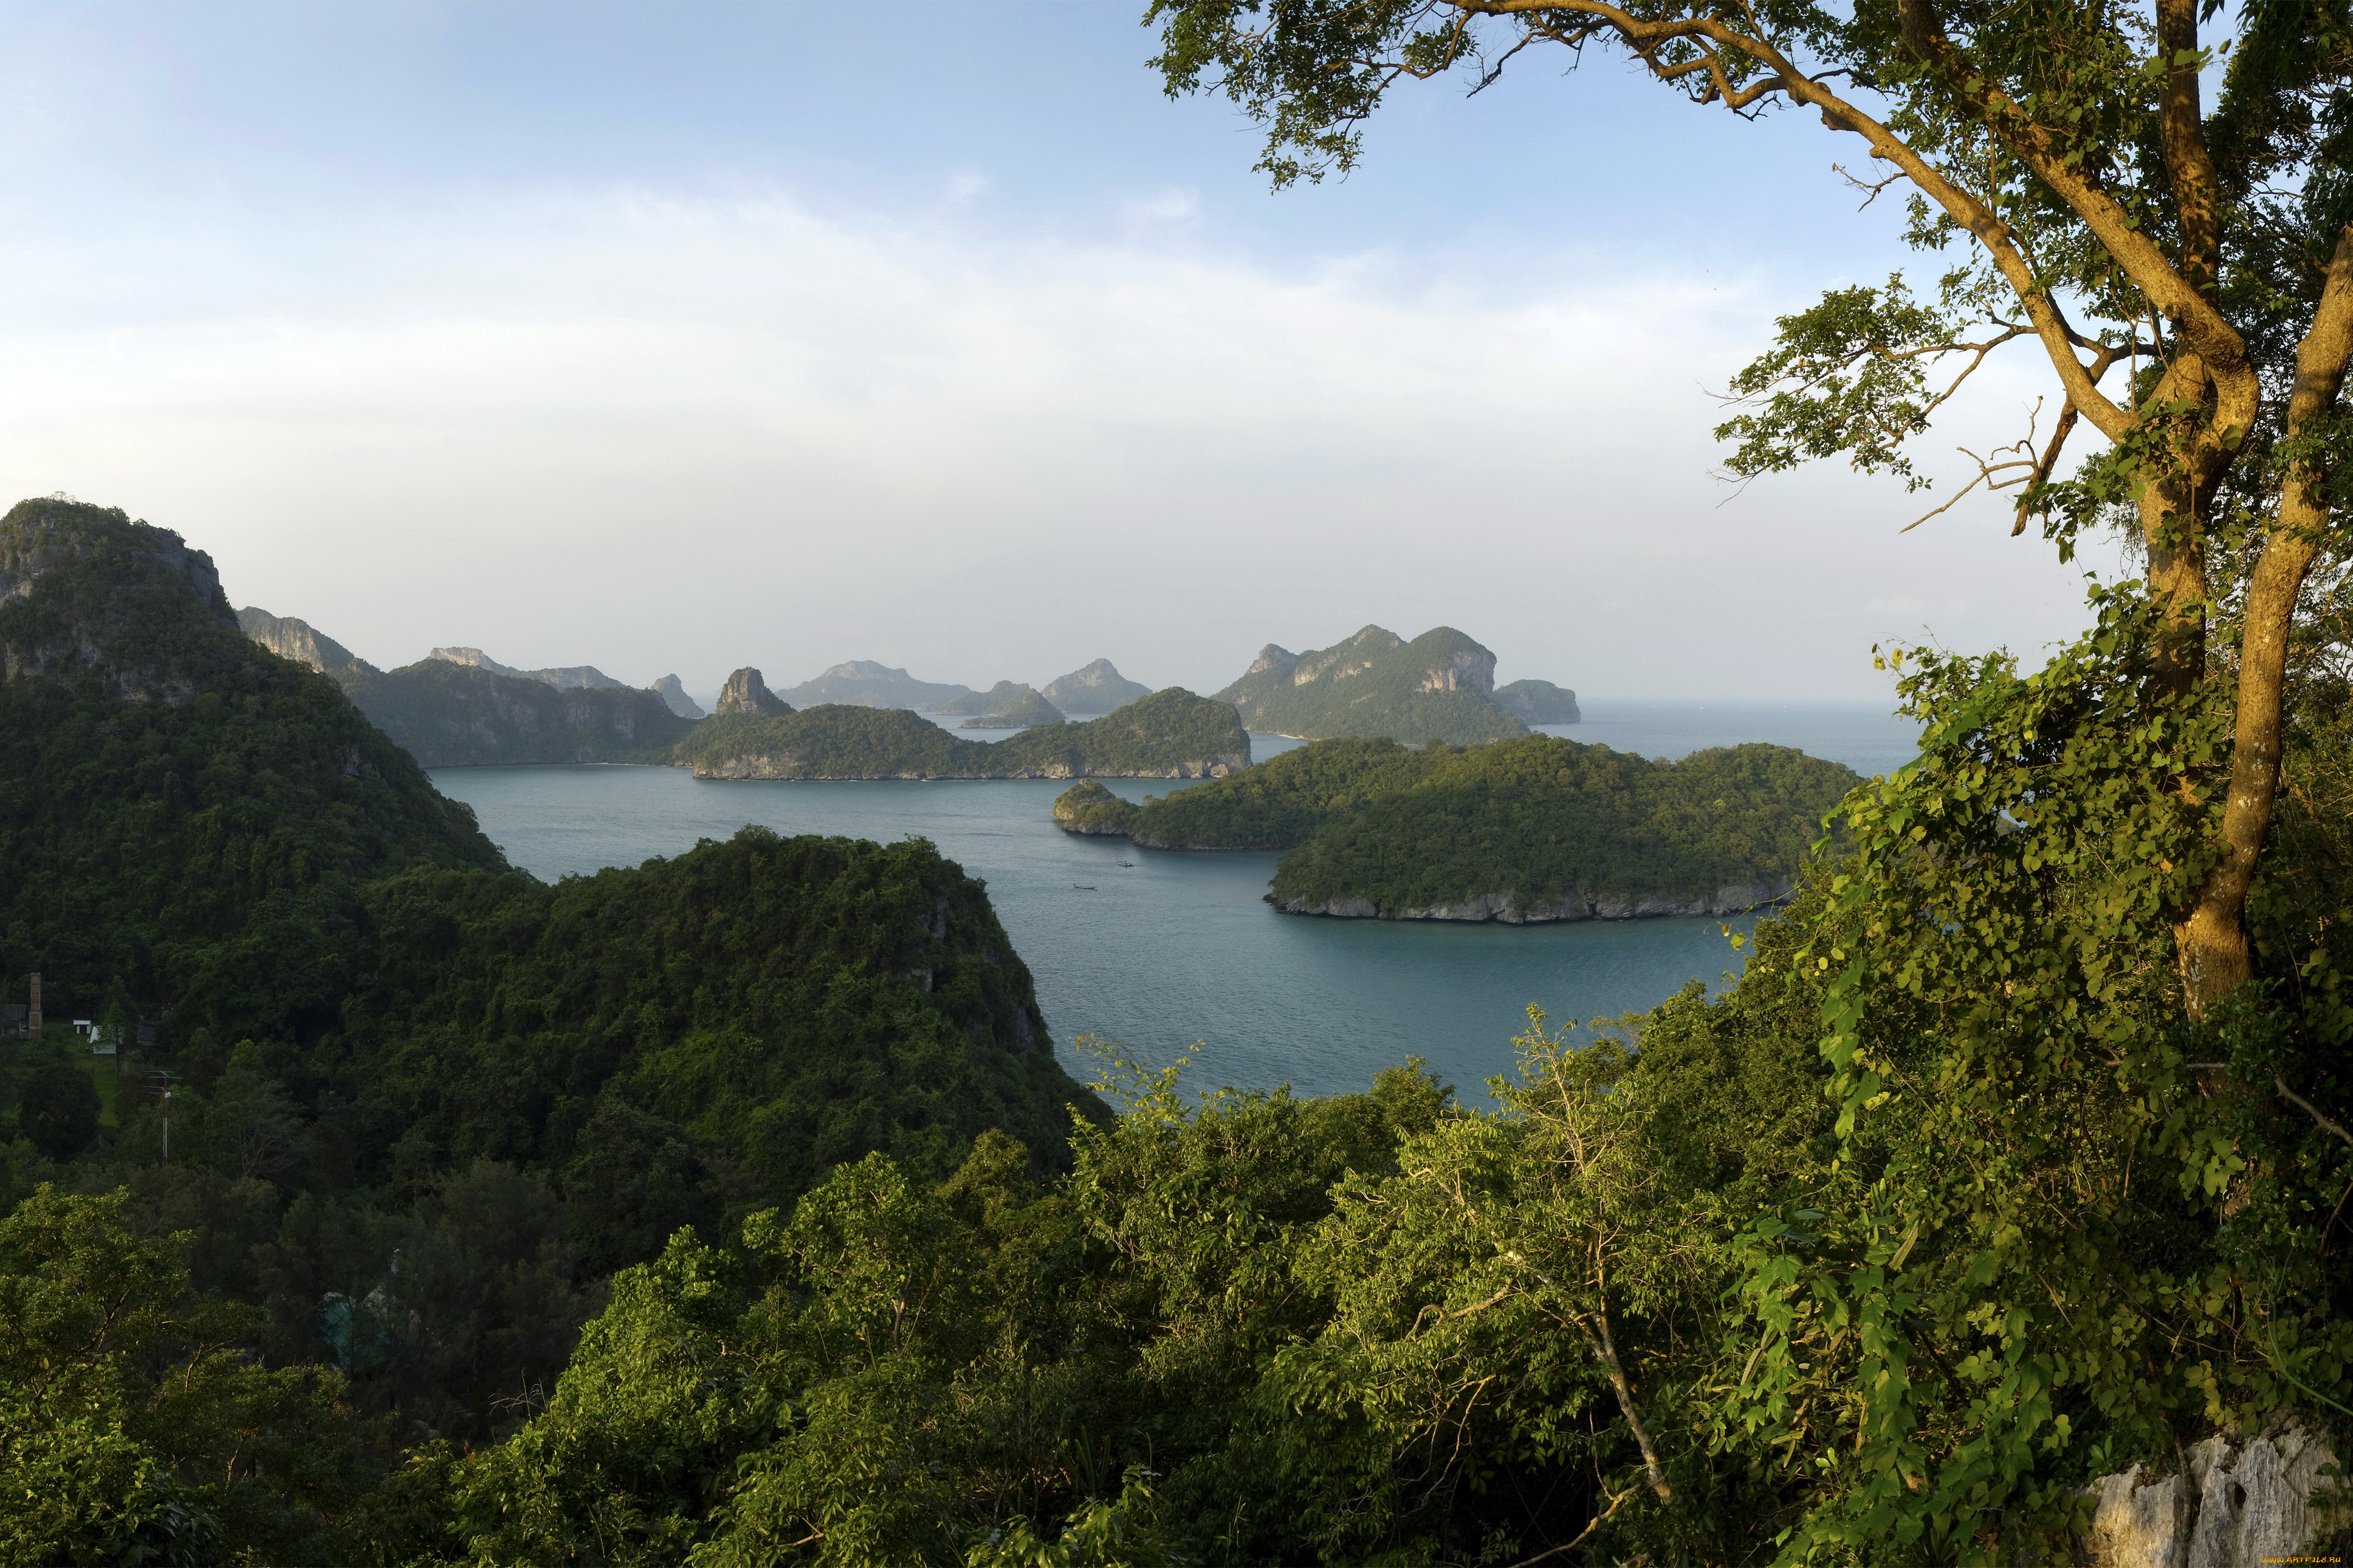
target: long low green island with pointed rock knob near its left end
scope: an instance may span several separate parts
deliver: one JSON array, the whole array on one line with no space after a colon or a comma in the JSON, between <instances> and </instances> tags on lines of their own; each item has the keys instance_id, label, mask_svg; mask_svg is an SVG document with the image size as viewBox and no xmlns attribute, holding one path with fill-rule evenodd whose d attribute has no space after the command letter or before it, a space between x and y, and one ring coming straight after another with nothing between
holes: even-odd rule
<instances>
[{"instance_id":1,"label":"long low green island with pointed rock knob near its left end","mask_svg":"<svg viewBox=\"0 0 2353 1568\"><path fill-rule=\"evenodd\" d=\"M965 741L904 708L718 715L673 750L696 778L1228 778L1249 769L1231 703L1169 686L1085 724Z\"/></svg>"}]
</instances>

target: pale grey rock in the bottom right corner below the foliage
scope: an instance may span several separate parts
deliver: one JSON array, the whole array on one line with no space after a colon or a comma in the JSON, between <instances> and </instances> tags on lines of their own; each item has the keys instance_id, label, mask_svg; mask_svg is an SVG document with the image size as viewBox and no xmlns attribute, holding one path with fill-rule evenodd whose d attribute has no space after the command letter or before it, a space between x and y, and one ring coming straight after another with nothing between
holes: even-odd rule
<instances>
[{"instance_id":1,"label":"pale grey rock in the bottom right corner below the foliage","mask_svg":"<svg viewBox=\"0 0 2353 1568\"><path fill-rule=\"evenodd\" d=\"M2327 1441L2282 1427L2233 1443L2209 1436L2188 1469L2148 1476L2139 1465L2101 1476L2085 1559L2094 1568L2261 1568L2313 1554L2348 1526Z\"/></svg>"}]
</instances>

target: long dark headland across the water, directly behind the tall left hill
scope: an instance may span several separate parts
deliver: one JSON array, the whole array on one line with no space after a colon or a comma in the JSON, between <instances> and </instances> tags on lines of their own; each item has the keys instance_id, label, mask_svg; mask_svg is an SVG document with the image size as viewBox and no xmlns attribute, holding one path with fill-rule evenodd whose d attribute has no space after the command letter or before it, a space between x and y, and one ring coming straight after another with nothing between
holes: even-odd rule
<instances>
[{"instance_id":1,"label":"long dark headland across the water, directly behind the tall left hill","mask_svg":"<svg viewBox=\"0 0 2353 1568\"><path fill-rule=\"evenodd\" d=\"M694 719L635 686L551 686L447 658L336 670L353 705L421 766L668 762Z\"/></svg>"}]
</instances>

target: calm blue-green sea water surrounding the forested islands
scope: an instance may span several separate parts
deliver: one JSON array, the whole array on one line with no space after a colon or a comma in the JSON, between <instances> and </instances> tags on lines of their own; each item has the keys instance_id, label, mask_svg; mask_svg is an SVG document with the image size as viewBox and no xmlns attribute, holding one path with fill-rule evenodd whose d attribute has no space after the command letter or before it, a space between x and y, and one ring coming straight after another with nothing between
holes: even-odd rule
<instances>
[{"instance_id":1,"label":"calm blue-green sea water surrounding the forested islands","mask_svg":"<svg viewBox=\"0 0 2353 1568\"><path fill-rule=\"evenodd\" d=\"M1546 733L1642 757L1769 741L1887 773L1918 731L1878 703L1581 703L1584 722ZM936 719L958 724L955 719ZM958 731L1002 738L995 731ZM1264 762L1299 745L1252 736ZM988 898L1038 980L1064 1065L1085 1079L1104 1051L1165 1067L1191 1058L1191 1088L1341 1093L1407 1058L1489 1105L1513 1072L1513 1037L1539 1006L1551 1025L1614 1020L1689 980L1729 985L1732 933L1755 917L1466 926L1318 919L1264 903L1271 853L1146 851L1054 827L1064 783L696 780L661 766L435 769L442 795L473 806L506 858L544 879L675 856L746 823L896 842L925 837ZM1129 799L1186 788L1106 780Z\"/></svg>"}]
</instances>

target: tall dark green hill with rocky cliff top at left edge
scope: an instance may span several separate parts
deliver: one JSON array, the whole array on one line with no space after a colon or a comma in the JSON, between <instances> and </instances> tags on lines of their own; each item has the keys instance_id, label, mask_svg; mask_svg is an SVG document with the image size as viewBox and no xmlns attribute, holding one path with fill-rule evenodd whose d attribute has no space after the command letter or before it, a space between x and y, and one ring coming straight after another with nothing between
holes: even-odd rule
<instances>
[{"instance_id":1,"label":"tall dark green hill with rocky cliff top at left edge","mask_svg":"<svg viewBox=\"0 0 2353 1568\"><path fill-rule=\"evenodd\" d=\"M501 865L334 679L238 630L207 555L120 510L0 517L0 971L40 969L52 1016L122 980L179 1039L327 1027L362 884Z\"/></svg>"}]
</instances>

